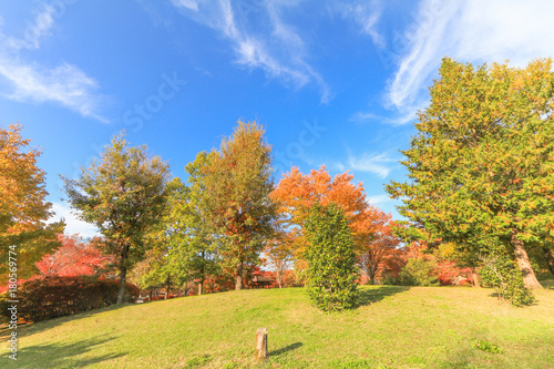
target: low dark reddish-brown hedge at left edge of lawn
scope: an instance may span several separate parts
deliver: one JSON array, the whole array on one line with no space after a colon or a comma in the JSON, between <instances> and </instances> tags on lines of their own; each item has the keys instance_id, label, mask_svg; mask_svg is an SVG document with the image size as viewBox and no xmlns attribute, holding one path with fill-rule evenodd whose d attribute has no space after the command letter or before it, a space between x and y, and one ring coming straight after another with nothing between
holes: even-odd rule
<instances>
[{"instance_id":1,"label":"low dark reddish-brown hedge at left edge of lawn","mask_svg":"<svg viewBox=\"0 0 554 369\"><path fill-rule=\"evenodd\" d=\"M18 288L18 316L40 321L98 309L117 301L120 281L86 277L44 277L28 280ZM126 284L125 303L135 303L140 289ZM8 317L7 294L0 298L1 314Z\"/></svg>"}]
</instances>

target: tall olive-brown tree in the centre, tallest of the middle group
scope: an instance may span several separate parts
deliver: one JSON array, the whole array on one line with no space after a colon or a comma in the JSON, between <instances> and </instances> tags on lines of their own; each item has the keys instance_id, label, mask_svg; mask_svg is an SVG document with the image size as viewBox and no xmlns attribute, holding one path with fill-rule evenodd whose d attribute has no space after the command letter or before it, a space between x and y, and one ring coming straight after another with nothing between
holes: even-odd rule
<instances>
[{"instance_id":1,"label":"tall olive-brown tree in the centre, tallest of the middle group","mask_svg":"<svg viewBox=\"0 0 554 369\"><path fill-rule=\"evenodd\" d=\"M233 268L235 289L243 288L246 267L258 264L259 253L273 237L276 206L270 146L256 122L238 122L219 151L212 151L203 182L209 219L222 235L219 255Z\"/></svg>"}]
</instances>

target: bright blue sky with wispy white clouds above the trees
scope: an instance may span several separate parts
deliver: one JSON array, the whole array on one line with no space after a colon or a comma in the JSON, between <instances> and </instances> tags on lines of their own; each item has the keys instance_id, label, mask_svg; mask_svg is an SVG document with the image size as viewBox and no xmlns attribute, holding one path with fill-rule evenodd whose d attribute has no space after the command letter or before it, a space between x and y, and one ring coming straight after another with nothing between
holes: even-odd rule
<instances>
[{"instance_id":1,"label":"bright blue sky with wispy white clouds above the trees","mask_svg":"<svg viewBox=\"0 0 554 369\"><path fill-rule=\"evenodd\" d=\"M0 125L40 146L49 201L90 235L59 174L99 156L122 129L172 173L257 120L276 176L349 170L398 217L384 184L443 57L524 65L554 54L552 1L4 1Z\"/></svg>"}]
</instances>

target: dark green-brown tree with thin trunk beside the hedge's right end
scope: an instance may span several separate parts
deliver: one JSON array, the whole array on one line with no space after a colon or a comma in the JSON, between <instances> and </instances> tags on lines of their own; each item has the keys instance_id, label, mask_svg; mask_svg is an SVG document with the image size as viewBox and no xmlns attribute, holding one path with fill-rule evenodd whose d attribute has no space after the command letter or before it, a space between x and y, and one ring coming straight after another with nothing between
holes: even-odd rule
<instances>
[{"instance_id":1,"label":"dark green-brown tree with thin trunk beside the hedge's right end","mask_svg":"<svg viewBox=\"0 0 554 369\"><path fill-rule=\"evenodd\" d=\"M123 303L127 269L143 258L144 236L161 221L166 206L168 165L148 157L145 145L130 147L114 136L100 161L81 170L78 180L64 178L65 192L79 217L94 224L106 238L106 252L119 255L120 291Z\"/></svg>"}]
</instances>

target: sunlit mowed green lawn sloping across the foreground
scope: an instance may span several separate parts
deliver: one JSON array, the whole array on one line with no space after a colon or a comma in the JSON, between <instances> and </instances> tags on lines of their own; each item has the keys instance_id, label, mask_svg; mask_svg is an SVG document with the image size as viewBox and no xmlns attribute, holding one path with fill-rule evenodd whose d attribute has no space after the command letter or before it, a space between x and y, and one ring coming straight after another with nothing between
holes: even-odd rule
<instances>
[{"instance_id":1,"label":"sunlit mowed green lawn sloping across the foreground","mask_svg":"<svg viewBox=\"0 0 554 369\"><path fill-rule=\"evenodd\" d=\"M527 308L492 294L361 287L359 308L331 315L311 307L302 288L106 308L19 328L18 360L4 349L0 367L554 368L554 290L537 291ZM263 363L254 361L258 327L269 330ZM503 353L481 351L475 340Z\"/></svg>"}]
</instances>

